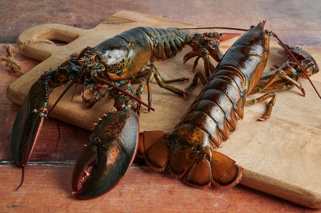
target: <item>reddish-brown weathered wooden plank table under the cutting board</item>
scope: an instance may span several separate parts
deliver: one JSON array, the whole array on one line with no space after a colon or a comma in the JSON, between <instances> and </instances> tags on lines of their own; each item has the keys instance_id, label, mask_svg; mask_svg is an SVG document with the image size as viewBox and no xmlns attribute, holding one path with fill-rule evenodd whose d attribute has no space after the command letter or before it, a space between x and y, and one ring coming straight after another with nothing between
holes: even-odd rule
<instances>
[{"instance_id":1,"label":"reddish-brown weathered wooden plank table under the cutting board","mask_svg":"<svg viewBox=\"0 0 321 213\"><path fill-rule=\"evenodd\" d=\"M69 1L43 1L41 4L2 1L0 5L0 55L5 54L6 42L14 43L19 34L34 25L59 23L91 29L120 10L203 26L249 28L259 20L267 19L266 28L278 33L287 44L321 51L318 28L321 26L321 6L317 1L216 1L215 4L195 1L185 5L182 1L105 1L99 4L86 1L78 1L77 4ZM21 61L24 72L38 63L19 54L16 58ZM1 211L318 211L242 185L229 190L216 187L194 189L171 178L166 174L168 171L153 172L141 161L136 161L123 181L109 194L94 200L75 200L70 186L73 163L82 148L79 144L87 143L90 132L52 118L48 119L31 159L32 162L48 164L31 163L26 168L24 185L14 191L21 180L21 171L11 161L9 139L19 107L5 97L5 91L18 75L10 73L4 63L0 63L0 69L3 76L0 84Z\"/></svg>"}]
</instances>

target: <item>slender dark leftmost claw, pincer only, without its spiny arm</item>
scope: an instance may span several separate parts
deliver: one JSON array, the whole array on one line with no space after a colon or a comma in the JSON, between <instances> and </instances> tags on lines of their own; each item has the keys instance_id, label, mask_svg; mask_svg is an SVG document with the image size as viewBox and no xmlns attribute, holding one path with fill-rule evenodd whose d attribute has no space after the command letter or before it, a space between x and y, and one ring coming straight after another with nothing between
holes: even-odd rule
<instances>
[{"instance_id":1,"label":"slender dark leftmost claw, pincer only, without its spiny arm","mask_svg":"<svg viewBox=\"0 0 321 213\"><path fill-rule=\"evenodd\" d=\"M24 167L48 115L48 87L38 79L30 89L15 119L11 133L11 154L14 162Z\"/></svg>"}]
</instances>

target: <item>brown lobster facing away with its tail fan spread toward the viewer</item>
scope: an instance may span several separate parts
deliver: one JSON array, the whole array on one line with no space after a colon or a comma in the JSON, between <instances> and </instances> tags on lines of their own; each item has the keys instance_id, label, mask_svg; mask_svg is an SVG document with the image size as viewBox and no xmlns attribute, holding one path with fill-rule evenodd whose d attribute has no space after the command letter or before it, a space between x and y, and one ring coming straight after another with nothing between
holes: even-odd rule
<instances>
[{"instance_id":1,"label":"brown lobster facing away with its tail fan spread toward the viewer","mask_svg":"<svg viewBox=\"0 0 321 213\"><path fill-rule=\"evenodd\" d=\"M206 77L197 73L187 90L197 79L205 87L172 132L154 131L140 135L138 154L150 167L163 171L168 166L173 177L184 178L186 184L199 188L211 184L229 188L240 181L242 168L216 149L235 131L237 120L244 116L245 105L271 98L267 112L260 118L266 120L270 118L275 102L275 94L269 91L254 100L246 101L246 97L265 90L290 89L292 85L304 91L297 78L303 72L318 72L311 55L303 51L299 54L296 48L291 48L288 53L294 53L292 57L297 58L296 62L292 62L293 59L271 71L272 75L263 75L270 37L276 37L272 31L265 30L264 25L265 21L245 32L222 57L218 45L208 39L207 34L192 38L193 51L185 55L184 61L197 57L194 69L198 59L203 58ZM216 67L209 55L218 61Z\"/></svg>"}]
</instances>

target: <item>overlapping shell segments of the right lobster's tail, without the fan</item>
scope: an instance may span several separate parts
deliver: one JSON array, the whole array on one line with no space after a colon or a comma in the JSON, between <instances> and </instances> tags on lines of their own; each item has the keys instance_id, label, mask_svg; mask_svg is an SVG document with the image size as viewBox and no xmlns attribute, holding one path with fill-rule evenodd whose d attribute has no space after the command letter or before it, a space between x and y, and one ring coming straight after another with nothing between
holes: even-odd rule
<instances>
[{"instance_id":1,"label":"overlapping shell segments of the right lobster's tail, without the fan","mask_svg":"<svg viewBox=\"0 0 321 213\"><path fill-rule=\"evenodd\" d=\"M227 140L236 129L237 119L243 118L245 100L235 81L226 79L217 76L210 80L176 128L183 123L194 124L209 134L215 147Z\"/></svg>"}]
</instances>

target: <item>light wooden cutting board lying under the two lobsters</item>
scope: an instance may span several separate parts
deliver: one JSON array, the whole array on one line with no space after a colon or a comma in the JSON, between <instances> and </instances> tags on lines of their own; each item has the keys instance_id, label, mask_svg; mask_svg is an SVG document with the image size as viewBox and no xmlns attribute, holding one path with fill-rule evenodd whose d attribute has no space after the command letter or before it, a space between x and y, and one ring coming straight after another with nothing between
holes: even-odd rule
<instances>
[{"instance_id":1,"label":"light wooden cutting board lying under the two lobsters","mask_svg":"<svg viewBox=\"0 0 321 213\"><path fill-rule=\"evenodd\" d=\"M259 22L259 20L257 20ZM249 23L249 27L257 23ZM168 27L199 27L150 15L121 11L108 18L97 27L85 30L59 24L46 24L32 27L19 36L17 44L34 38L46 38L67 42L64 46L47 44L31 44L22 50L28 57L41 60L32 70L14 81L7 90L8 98L17 104L22 104L32 83L49 68L56 68L70 57L70 54L80 52L87 46L94 47L99 42L130 28L149 26L154 28ZM272 29L270 29L272 30ZM279 35L282 38L282 35ZM225 52L235 41L220 44ZM177 56L155 62L162 76L166 79L177 77L193 78L192 62L183 63L183 56L190 51L184 49ZM267 70L273 65L281 65L287 60L284 51L271 42L271 55ZM321 65L321 53L309 51ZM202 60L197 71L202 71ZM315 87L321 91L321 74L312 77ZM260 103L245 109L245 118L238 122L236 131L230 139L223 143L218 151L228 155L243 167L244 176L241 184L264 191L266 193L293 201L305 206L321 207L321 100L313 91L307 80L300 80L306 90L303 97L296 88L291 91L277 92L272 117L268 121L257 121L266 110L267 103ZM189 82L179 82L173 85L185 88ZM144 108L140 125L141 131L173 130L174 125L187 110L190 103L202 89L202 84L190 93L189 98L179 97L156 83L152 84L153 107L155 112L147 112ZM80 93L78 89L77 93ZM63 88L57 88L50 95L52 104ZM91 130L95 119L113 109L113 101L105 98L93 109L87 109L82 104L80 96L71 102L70 90L59 102L52 116ZM250 97L248 98L248 100ZM144 101L147 101L144 96Z\"/></svg>"}]
</instances>

